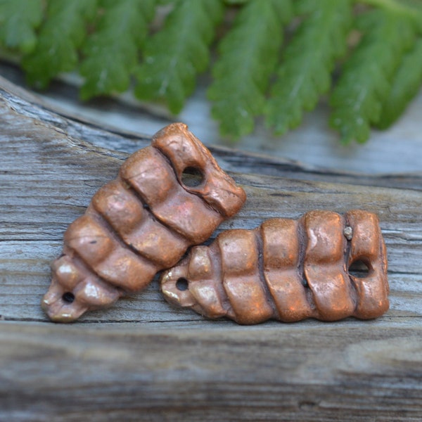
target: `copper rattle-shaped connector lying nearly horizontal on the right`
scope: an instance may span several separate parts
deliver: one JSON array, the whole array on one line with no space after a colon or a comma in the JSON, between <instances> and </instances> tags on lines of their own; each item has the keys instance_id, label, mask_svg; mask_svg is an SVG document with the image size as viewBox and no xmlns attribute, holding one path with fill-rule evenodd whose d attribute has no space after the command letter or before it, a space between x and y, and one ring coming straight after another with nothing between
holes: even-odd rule
<instances>
[{"instance_id":1,"label":"copper rattle-shaped connector lying nearly horizontal on the right","mask_svg":"<svg viewBox=\"0 0 422 422\"><path fill-rule=\"evenodd\" d=\"M368 274L351 274L354 262ZM161 289L174 305L239 324L376 318L388 309L389 291L378 217L315 210L224 231L165 271Z\"/></svg>"}]
</instances>

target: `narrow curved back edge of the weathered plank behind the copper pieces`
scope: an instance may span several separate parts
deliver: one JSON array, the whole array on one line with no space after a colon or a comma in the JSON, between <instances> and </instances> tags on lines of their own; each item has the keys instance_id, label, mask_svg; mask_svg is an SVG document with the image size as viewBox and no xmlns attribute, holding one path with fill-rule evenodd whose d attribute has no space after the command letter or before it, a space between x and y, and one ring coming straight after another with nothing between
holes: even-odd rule
<instances>
[{"instance_id":1,"label":"narrow curved back edge of the weathered plank behind the copper pieces","mask_svg":"<svg viewBox=\"0 0 422 422\"><path fill-rule=\"evenodd\" d=\"M133 153L150 142L149 136L135 134L133 132L117 133L115 129L98 127L92 122L81 120L68 115L67 112L51 110L42 103L39 98L29 94L0 77L2 100L11 108L18 110L21 115L32 117L40 122L51 124L53 127L62 129L69 136L81 139L101 148L108 148L124 153ZM24 101L23 101L24 100ZM70 118L66 118L70 117ZM313 165L305 165L302 162L288 160L258 153L245 153L232 148L222 146L210 146L213 155L219 161L224 170L239 173L258 173L269 176L287 177L293 179L305 179L314 181L334 181L335 183L362 184L368 186L387 186L399 188L415 188L421 190L421 172L408 172L395 174L365 174L362 172L341 172L329 170ZM388 150L379 151L377 160L383 160L389 155ZM389 157L388 157L389 158ZM390 158L389 158L390 160Z\"/></svg>"}]
</instances>

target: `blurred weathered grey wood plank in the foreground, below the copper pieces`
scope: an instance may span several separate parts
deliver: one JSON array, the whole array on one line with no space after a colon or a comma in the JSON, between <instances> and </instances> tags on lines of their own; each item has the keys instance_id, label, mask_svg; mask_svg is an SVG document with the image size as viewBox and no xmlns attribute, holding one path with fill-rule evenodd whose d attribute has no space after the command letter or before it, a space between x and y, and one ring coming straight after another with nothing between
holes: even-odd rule
<instances>
[{"instance_id":1,"label":"blurred weathered grey wood plank in the foreground, below the copper pieces","mask_svg":"<svg viewBox=\"0 0 422 422\"><path fill-rule=\"evenodd\" d=\"M118 325L2 324L0 419L422 418L422 332L411 321Z\"/></svg>"}]
</instances>

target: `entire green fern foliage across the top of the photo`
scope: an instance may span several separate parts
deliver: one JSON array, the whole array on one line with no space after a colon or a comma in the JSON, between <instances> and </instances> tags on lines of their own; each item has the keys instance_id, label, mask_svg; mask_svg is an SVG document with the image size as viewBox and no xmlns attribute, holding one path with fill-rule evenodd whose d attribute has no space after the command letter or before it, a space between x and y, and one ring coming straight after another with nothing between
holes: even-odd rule
<instances>
[{"instance_id":1,"label":"entire green fern foliage across the top of the photo","mask_svg":"<svg viewBox=\"0 0 422 422\"><path fill-rule=\"evenodd\" d=\"M283 134L328 94L343 143L395 122L422 84L421 0L0 0L0 45L27 80L84 78L181 111L210 70L222 134ZM210 58L214 60L210 60Z\"/></svg>"}]
</instances>

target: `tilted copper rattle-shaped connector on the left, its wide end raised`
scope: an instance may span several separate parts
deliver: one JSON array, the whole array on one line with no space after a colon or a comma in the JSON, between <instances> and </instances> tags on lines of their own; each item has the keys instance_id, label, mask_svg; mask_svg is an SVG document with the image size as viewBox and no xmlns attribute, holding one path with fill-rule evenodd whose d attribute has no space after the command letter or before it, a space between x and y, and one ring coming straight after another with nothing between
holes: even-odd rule
<instances>
[{"instance_id":1,"label":"tilted copper rattle-shaped connector on the left, its wide end raised","mask_svg":"<svg viewBox=\"0 0 422 422\"><path fill-rule=\"evenodd\" d=\"M196 174L197 183L187 174ZM187 126L170 124L129 156L65 231L41 306L53 321L74 321L145 288L244 202L243 189Z\"/></svg>"}]
</instances>

